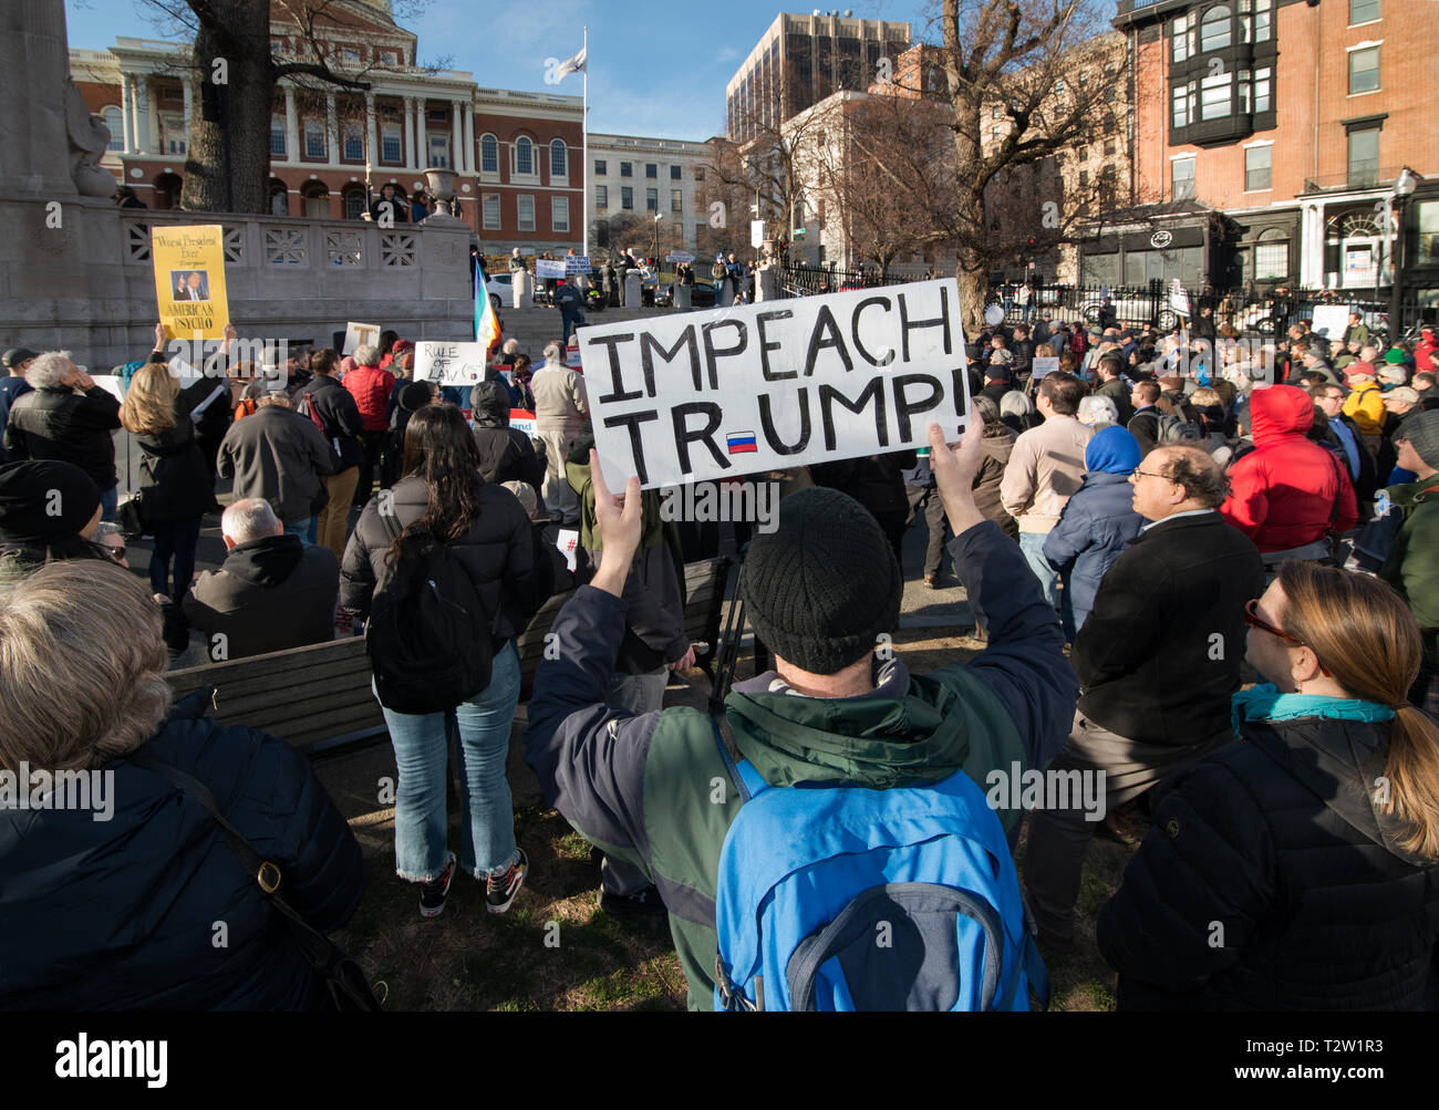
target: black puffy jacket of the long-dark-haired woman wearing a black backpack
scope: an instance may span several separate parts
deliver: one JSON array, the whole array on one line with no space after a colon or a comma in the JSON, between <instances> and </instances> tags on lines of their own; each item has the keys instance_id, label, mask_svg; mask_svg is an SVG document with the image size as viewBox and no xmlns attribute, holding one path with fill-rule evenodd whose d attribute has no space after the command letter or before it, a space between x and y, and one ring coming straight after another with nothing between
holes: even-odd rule
<instances>
[{"instance_id":1,"label":"black puffy jacket of the long-dark-haired woman wearing a black backpack","mask_svg":"<svg viewBox=\"0 0 1439 1110\"><path fill-rule=\"evenodd\" d=\"M390 490L394 515L401 528L425 516L429 487L412 474ZM370 601L384 577L384 556L390 532L380 519L378 499L364 506L355 531L345 546L340 567L340 604L361 615L370 614ZM537 597L534 536L524 508L504 486L489 482L479 489L479 516L463 539L450 545L479 592L488 613L496 614L495 647L524 631L543 598Z\"/></svg>"}]
</instances>

